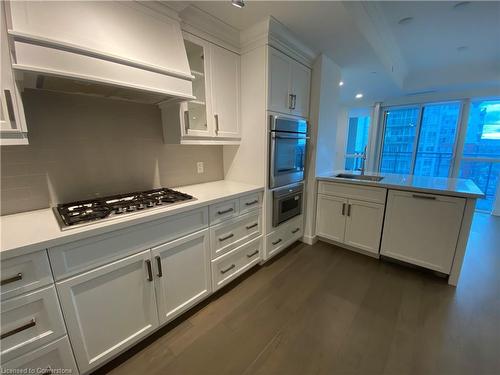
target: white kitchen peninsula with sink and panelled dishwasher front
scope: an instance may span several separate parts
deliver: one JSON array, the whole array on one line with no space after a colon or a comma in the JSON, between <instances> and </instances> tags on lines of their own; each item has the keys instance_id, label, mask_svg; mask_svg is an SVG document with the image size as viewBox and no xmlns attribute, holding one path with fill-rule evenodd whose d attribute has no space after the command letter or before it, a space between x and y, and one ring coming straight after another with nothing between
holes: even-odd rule
<instances>
[{"instance_id":1,"label":"white kitchen peninsula with sink and panelled dishwasher front","mask_svg":"<svg viewBox=\"0 0 500 375\"><path fill-rule=\"evenodd\" d=\"M349 171L317 180L319 239L423 267L457 285L476 200L483 197L474 182Z\"/></svg>"}]
</instances>

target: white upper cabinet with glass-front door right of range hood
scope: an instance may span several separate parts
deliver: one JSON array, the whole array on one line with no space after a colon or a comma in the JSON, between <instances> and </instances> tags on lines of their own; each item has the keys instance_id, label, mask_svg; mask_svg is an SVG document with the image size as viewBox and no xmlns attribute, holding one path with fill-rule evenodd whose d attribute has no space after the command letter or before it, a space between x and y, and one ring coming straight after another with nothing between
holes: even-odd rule
<instances>
[{"instance_id":1,"label":"white upper cabinet with glass-front door right of range hood","mask_svg":"<svg viewBox=\"0 0 500 375\"><path fill-rule=\"evenodd\" d=\"M165 143L238 144L240 56L188 33L184 44L196 99L160 104Z\"/></svg>"}]
</instances>

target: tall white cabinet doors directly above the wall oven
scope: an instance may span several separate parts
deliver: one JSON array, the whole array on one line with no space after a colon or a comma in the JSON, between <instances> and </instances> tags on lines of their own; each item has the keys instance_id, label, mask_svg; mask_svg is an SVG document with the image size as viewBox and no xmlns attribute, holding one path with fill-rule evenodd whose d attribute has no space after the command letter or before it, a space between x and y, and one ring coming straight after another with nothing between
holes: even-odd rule
<instances>
[{"instance_id":1,"label":"tall white cabinet doors directly above the wall oven","mask_svg":"<svg viewBox=\"0 0 500 375\"><path fill-rule=\"evenodd\" d=\"M307 118L311 70L269 47L268 109Z\"/></svg>"}]
</instances>

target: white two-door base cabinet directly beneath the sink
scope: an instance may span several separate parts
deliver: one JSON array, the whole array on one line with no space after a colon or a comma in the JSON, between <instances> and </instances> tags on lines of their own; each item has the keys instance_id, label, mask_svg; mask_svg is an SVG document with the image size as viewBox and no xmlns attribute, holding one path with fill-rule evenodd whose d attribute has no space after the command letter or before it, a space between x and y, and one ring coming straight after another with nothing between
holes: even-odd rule
<instances>
[{"instance_id":1,"label":"white two-door base cabinet directly beneath the sink","mask_svg":"<svg viewBox=\"0 0 500 375\"><path fill-rule=\"evenodd\" d=\"M316 234L378 255L386 190L320 182L318 191Z\"/></svg>"}]
</instances>

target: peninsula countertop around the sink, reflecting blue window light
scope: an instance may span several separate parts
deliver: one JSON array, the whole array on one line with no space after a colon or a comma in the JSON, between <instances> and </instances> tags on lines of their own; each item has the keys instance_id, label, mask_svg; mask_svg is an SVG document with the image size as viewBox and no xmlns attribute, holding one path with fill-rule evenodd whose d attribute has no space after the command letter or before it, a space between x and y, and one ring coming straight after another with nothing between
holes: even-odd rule
<instances>
[{"instance_id":1,"label":"peninsula countertop around the sink, reflecting blue window light","mask_svg":"<svg viewBox=\"0 0 500 375\"><path fill-rule=\"evenodd\" d=\"M370 176L383 176L380 181L354 180L334 177L339 173L359 174L359 172L338 170L316 176L318 180L335 181L346 184L378 186L389 189L419 191L423 193L450 195L465 198L482 198L483 192L472 180L463 178L426 177L390 173L366 172Z\"/></svg>"}]
</instances>

